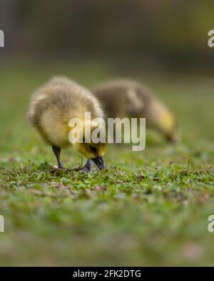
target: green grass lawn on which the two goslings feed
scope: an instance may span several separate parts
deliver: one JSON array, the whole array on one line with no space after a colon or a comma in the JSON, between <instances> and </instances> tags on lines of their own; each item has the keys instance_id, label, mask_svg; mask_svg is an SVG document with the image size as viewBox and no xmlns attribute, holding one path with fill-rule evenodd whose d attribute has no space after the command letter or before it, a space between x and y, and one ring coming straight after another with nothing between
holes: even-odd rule
<instances>
[{"instance_id":1,"label":"green grass lawn on which the two goslings feed","mask_svg":"<svg viewBox=\"0 0 214 281\"><path fill-rule=\"evenodd\" d=\"M20 65L0 69L0 265L213 265L214 81L138 73L178 116L180 143L148 132L144 152L108 147L108 170L82 175L53 171L51 149L26 120L29 97L53 74L90 87L118 73ZM62 159L83 161L72 150Z\"/></svg>"}]
</instances>

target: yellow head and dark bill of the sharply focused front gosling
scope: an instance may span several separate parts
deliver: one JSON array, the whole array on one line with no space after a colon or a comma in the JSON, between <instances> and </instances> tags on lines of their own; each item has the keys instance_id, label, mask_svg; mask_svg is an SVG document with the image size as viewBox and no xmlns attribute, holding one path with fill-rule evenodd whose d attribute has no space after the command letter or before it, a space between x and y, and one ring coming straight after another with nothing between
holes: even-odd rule
<instances>
[{"instance_id":1,"label":"yellow head and dark bill of the sharply focused front gosling","mask_svg":"<svg viewBox=\"0 0 214 281\"><path fill-rule=\"evenodd\" d=\"M91 132L91 134L86 136L86 131ZM95 132L95 130L97 130ZM91 159L97 166L98 169L105 169L103 162L103 155L106 151L106 142L93 141L93 137L100 136L103 134L104 130L101 126L94 122L85 122L81 129L77 129L77 139L76 142L73 142L73 146L76 150L86 157Z\"/></svg>"}]
</instances>

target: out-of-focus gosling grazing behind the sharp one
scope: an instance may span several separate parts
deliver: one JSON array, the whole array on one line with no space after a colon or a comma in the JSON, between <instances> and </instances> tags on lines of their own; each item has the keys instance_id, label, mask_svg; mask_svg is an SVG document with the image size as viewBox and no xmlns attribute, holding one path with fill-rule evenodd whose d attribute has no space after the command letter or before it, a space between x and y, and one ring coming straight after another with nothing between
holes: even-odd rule
<instances>
[{"instance_id":1,"label":"out-of-focus gosling grazing behind the sharp one","mask_svg":"<svg viewBox=\"0 0 214 281\"><path fill-rule=\"evenodd\" d=\"M170 110L145 85L135 80L111 80L92 90L107 117L146 118L170 142L178 140L177 122Z\"/></svg>"}]
</instances>

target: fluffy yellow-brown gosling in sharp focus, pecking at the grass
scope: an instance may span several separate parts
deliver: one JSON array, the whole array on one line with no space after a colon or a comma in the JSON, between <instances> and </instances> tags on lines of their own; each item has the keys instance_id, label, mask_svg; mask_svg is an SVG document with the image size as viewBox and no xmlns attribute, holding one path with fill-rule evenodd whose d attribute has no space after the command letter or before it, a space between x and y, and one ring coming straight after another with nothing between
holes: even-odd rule
<instances>
[{"instance_id":1,"label":"fluffy yellow-brown gosling in sharp focus, pecking at the grass","mask_svg":"<svg viewBox=\"0 0 214 281\"><path fill-rule=\"evenodd\" d=\"M80 118L83 127L90 127L92 133L95 124L85 120L85 112L91 112L91 120L103 117L101 105L94 95L68 78L55 77L37 90L31 98L28 117L30 122L39 131L44 141L51 145L56 156L58 169L64 169L61 163L61 149L73 146L77 152L88 161L81 171L91 173L93 162L98 169L104 169L103 154L105 143L93 143L91 139L84 142L71 142L68 135L71 127L68 126L71 118ZM81 135L81 133L79 134ZM76 169L77 170L77 169Z\"/></svg>"}]
</instances>

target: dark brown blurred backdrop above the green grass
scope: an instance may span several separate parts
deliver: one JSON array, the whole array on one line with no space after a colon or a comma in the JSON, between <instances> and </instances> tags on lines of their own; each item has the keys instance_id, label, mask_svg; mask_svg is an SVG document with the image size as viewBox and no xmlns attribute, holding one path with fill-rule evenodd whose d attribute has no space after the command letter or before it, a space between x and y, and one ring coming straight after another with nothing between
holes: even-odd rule
<instances>
[{"instance_id":1,"label":"dark brown blurred backdrop above the green grass","mask_svg":"<svg viewBox=\"0 0 214 281\"><path fill-rule=\"evenodd\" d=\"M210 68L212 1L2 0L1 59L105 59L117 68Z\"/></svg>"}]
</instances>

